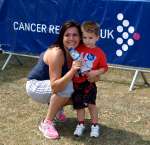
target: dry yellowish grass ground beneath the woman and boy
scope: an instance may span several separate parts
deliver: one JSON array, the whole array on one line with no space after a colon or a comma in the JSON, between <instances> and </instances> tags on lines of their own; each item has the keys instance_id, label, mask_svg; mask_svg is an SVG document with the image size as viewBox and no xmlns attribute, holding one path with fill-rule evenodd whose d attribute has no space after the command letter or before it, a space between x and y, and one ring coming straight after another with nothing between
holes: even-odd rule
<instances>
[{"instance_id":1,"label":"dry yellowish grass ground beneath the woman and boy","mask_svg":"<svg viewBox=\"0 0 150 145\"><path fill-rule=\"evenodd\" d=\"M0 55L0 66L5 59L6 55ZM12 58L6 69L0 71L0 145L150 145L150 89L138 79L136 89L129 92L133 72L112 68L97 83L101 136L89 137L87 113L85 134L74 137L76 114L67 106L68 121L57 123L61 138L44 138L37 126L47 106L32 101L25 92L26 76L37 60L20 60L23 66ZM146 76L150 82L150 75Z\"/></svg>"}]
</instances>

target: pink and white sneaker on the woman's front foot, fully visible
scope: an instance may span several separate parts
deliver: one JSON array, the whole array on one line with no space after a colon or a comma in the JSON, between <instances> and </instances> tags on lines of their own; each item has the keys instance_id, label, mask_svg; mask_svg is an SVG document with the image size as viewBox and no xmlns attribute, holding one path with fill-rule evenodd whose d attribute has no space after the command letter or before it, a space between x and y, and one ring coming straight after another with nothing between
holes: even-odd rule
<instances>
[{"instance_id":1,"label":"pink and white sneaker on the woman's front foot, fully visible","mask_svg":"<svg viewBox=\"0 0 150 145\"><path fill-rule=\"evenodd\" d=\"M43 133L43 135L48 139L58 139L59 134L54 127L53 122L50 120L42 121L39 125L39 130Z\"/></svg>"}]
</instances>

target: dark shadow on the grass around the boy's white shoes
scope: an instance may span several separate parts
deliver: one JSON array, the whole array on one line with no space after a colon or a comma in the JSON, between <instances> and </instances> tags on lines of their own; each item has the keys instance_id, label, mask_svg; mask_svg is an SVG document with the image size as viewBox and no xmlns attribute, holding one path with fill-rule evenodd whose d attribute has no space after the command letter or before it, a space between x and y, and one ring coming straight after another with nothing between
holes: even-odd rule
<instances>
[{"instance_id":1,"label":"dark shadow on the grass around the boy's white shoes","mask_svg":"<svg viewBox=\"0 0 150 145\"><path fill-rule=\"evenodd\" d=\"M76 144L84 145L150 145L150 141L143 140L136 133L117 128L110 128L100 124L101 135L99 138L91 138L89 121L86 121L86 130L82 137L73 136L76 126L75 118L69 118L64 124L58 124L57 129L64 138L70 138Z\"/></svg>"}]
</instances>

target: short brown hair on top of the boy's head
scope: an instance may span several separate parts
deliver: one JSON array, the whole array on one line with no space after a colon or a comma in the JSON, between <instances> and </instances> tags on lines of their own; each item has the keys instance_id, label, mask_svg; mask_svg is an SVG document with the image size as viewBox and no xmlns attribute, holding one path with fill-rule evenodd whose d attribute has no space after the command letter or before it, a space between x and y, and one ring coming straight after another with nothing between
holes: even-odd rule
<instances>
[{"instance_id":1,"label":"short brown hair on top of the boy's head","mask_svg":"<svg viewBox=\"0 0 150 145\"><path fill-rule=\"evenodd\" d=\"M97 36L99 36L100 33L100 26L98 23L94 21L85 21L81 25L82 31L88 32L88 33L94 33Z\"/></svg>"}]
</instances>

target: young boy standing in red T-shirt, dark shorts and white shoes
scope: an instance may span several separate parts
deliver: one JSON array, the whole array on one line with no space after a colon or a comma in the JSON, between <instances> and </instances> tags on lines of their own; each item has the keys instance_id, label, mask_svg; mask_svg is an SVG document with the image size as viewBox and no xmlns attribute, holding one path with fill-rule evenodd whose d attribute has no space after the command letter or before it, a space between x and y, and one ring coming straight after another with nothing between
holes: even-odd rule
<instances>
[{"instance_id":1,"label":"young boy standing in red T-shirt, dark shorts and white shoes","mask_svg":"<svg viewBox=\"0 0 150 145\"><path fill-rule=\"evenodd\" d=\"M97 88L93 78L104 74L107 69L107 62L104 52L96 46L99 39L99 25L92 21L84 22L81 25L83 32L83 45L76 50L83 57L83 67L89 67L90 71L75 75L74 93L72 95L73 106L77 111L78 124L74 131L75 136L82 136L85 126L85 108L88 107L91 116L91 137L99 137L100 128L98 125L98 112L96 108Z\"/></svg>"}]
</instances>

